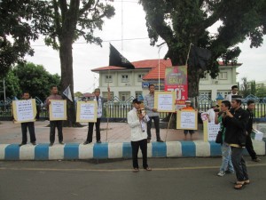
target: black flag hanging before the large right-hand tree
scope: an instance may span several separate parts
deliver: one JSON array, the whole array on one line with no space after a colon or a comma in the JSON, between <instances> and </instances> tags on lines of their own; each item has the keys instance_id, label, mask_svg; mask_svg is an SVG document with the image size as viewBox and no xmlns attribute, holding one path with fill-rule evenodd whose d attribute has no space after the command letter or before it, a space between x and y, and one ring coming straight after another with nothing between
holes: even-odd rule
<instances>
[{"instance_id":1,"label":"black flag hanging before the large right-hand tree","mask_svg":"<svg viewBox=\"0 0 266 200\"><path fill-rule=\"evenodd\" d=\"M207 60L211 58L211 55L212 53L209 50L192 45L189 66L206 70Z\"/></svg>"}]
</instances>

